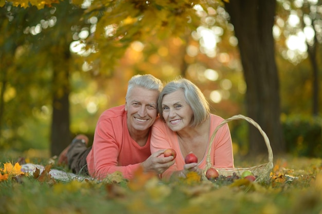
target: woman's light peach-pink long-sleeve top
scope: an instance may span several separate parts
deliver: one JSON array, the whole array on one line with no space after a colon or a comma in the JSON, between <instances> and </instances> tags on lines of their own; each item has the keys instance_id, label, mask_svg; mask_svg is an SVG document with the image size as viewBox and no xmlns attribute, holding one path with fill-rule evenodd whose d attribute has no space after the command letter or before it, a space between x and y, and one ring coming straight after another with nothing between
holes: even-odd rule
<instances>
[{"instance_id":1,"label":"woman's light peach-pink long-sleeve top","mask_svg":"<svg viewBox=\"0 0 322 214\"><path fill-rule=\"evenodd\" d=\"M210 114L210 132L209 140L217 126L223 121L220 116ZM209 142L208 144L209 145ZM160 174L160 178L169 180L174 171L184 169L185 157L180 149L178 137L176 132L172 131L165 122L157 119L152 126L151 136L151 153L156 152L159 149L173 148L176 152L175 163L170 166L164 173ZM198 167L203 169L206 166L207 151L201 161L198 163ZM192 151L193 152L193 151ZM214 138L214 142L211 145L210 152L211 164L217 168L230 168L234 167L234 154L232 153L232 143L229 127L227 124L222 126Z\"/></svg>"}]
</instances>

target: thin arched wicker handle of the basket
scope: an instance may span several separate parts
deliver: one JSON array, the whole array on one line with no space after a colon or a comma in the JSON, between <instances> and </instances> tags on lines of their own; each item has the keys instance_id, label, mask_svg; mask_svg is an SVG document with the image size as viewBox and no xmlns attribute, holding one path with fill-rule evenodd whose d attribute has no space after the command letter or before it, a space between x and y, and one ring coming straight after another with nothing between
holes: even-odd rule
<instances>
[{"instance_id":1,"label":"thin arched wicker handle of the basket","mask_svg":"<svg viewBox=\"0 0 322 214\"><path fill-rule=\"evenodd\" d=\"M272 147L271 147L271 144L270 144L270 140L267 137L266 133L258 125L258 123L256 123L253 119L248 118L247 116L238 114L238 115L231 116L231 118L228 118L228 119L222 121L217 126L217 128L213 131L213 133L211 135L211 138L210 138L209 148L208 148L208 153L207 153L207 159L206 159L206 161L207 161L207 168L209 168L211 166L211 161L210 161L211 145L213 143L214 136L216 135L217 131L219 130L219 128L221 128L223 125L225 125L225 123L227 123L229 121L232 121L232 120L238 120L238 119L244 119L245 121L247 121L247 122L251 123L252 125L254 125L259 130L259 132L262 134L262 136L264 138L264 141L265 141L265 144L266 144L266 147L267 147L267 151L269 152L269 162L273 163L273 151L272 151Z\"/></svg>"}]
</instances>

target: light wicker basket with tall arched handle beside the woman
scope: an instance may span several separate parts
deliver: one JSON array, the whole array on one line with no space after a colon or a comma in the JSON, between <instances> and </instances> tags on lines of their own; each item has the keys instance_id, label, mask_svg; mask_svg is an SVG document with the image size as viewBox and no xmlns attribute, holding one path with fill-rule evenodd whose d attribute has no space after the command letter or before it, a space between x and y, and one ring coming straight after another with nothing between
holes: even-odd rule
<instances>
[{"instance_id":1,"label":"light wicker basket with tall arched handle beside the woman","mask_svg":"<svg viewBox=\"0 0 322 214\"><path fill-rule=\"evenodd\" d=\"M247 116L243 116L243 115L239 114L239 115L235 115L235 116L232 116L231 118L224 120L213 131L211 138L210 138L209 149L208 149L207 159L206 159L206 166L204 169L204 173L202 173L203 180L205 180L205 181L208 180L205 176L205 172L212 166L211 159L210 159L211 145L213 143L213 139L214 139L218 129L221 128L225 123L232 121L232 120L238 120L238 119L243 119L243 120L246 120L247 122L253 124L259 130L259 132L262 134L265 144L267 146L267 150L269 152L269 162L265 163L265 164L258 165L258 166L248 167L248 168L217 168L219 171L219 174L222 174L223 176L231 176L232 173L236 172L238 174L238 176L240 176L243 173L243 171L249 170L249 171L253 172L253 174L257 177L256 181L258 181L258 182L265 181L265 180L269 179L270 173L273 169L273 151L271 148L269 138L267 138L266 133L261 129L261 127L254 120L252 120L251 118L248 118Z\"/></svg>"}]
</instances>

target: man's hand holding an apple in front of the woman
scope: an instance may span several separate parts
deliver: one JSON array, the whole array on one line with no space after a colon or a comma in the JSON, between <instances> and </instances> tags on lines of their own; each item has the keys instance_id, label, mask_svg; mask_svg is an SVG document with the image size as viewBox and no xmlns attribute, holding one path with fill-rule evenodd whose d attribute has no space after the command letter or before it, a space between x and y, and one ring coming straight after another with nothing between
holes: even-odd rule
<instances>
[{"instance_id":1,"label":"man's hand holding an apple in front of the woman","mask_svg":"<svg viewBox=\"0 0 322 214\"><path fill-rule=\"evenodd\" d=\"M167 170L170 166L174 164L174 158L173 156L169 157L159 157L165 149L158 150L157 152L154 152L150 155L150 157L141 163L141 167L144 171L154 171L157 174L163 173L165 170Z\"/></svg>"}]
</instances>

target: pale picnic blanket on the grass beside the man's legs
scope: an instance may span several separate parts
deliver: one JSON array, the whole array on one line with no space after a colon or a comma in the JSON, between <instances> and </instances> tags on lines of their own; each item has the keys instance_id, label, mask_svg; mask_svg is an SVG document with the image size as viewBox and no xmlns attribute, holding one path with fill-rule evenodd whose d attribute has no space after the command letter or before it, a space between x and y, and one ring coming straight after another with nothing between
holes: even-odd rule
<instances>
[{"instance_id":1,"label":"pale picnic blanket on the grass beside the man's legs","mask_svg":"<svg viewBox=\"0 0 322 214\"><path fill-rule=\"evenodd\" d=\"M45 169L45 166L27 163L21 166L21 171L28 172L29 174L32 175L35 172L36 168L38 168L40 170L40 173L42 173ZM75 179L79 181L83 181L85 179L92 180L90 177L81 176L79 174L66 172L64 170L59 170L59 169L50 169L49 174L52 178L61 180L61 181L71 181Z\"/></svg>"}]
</instances>

